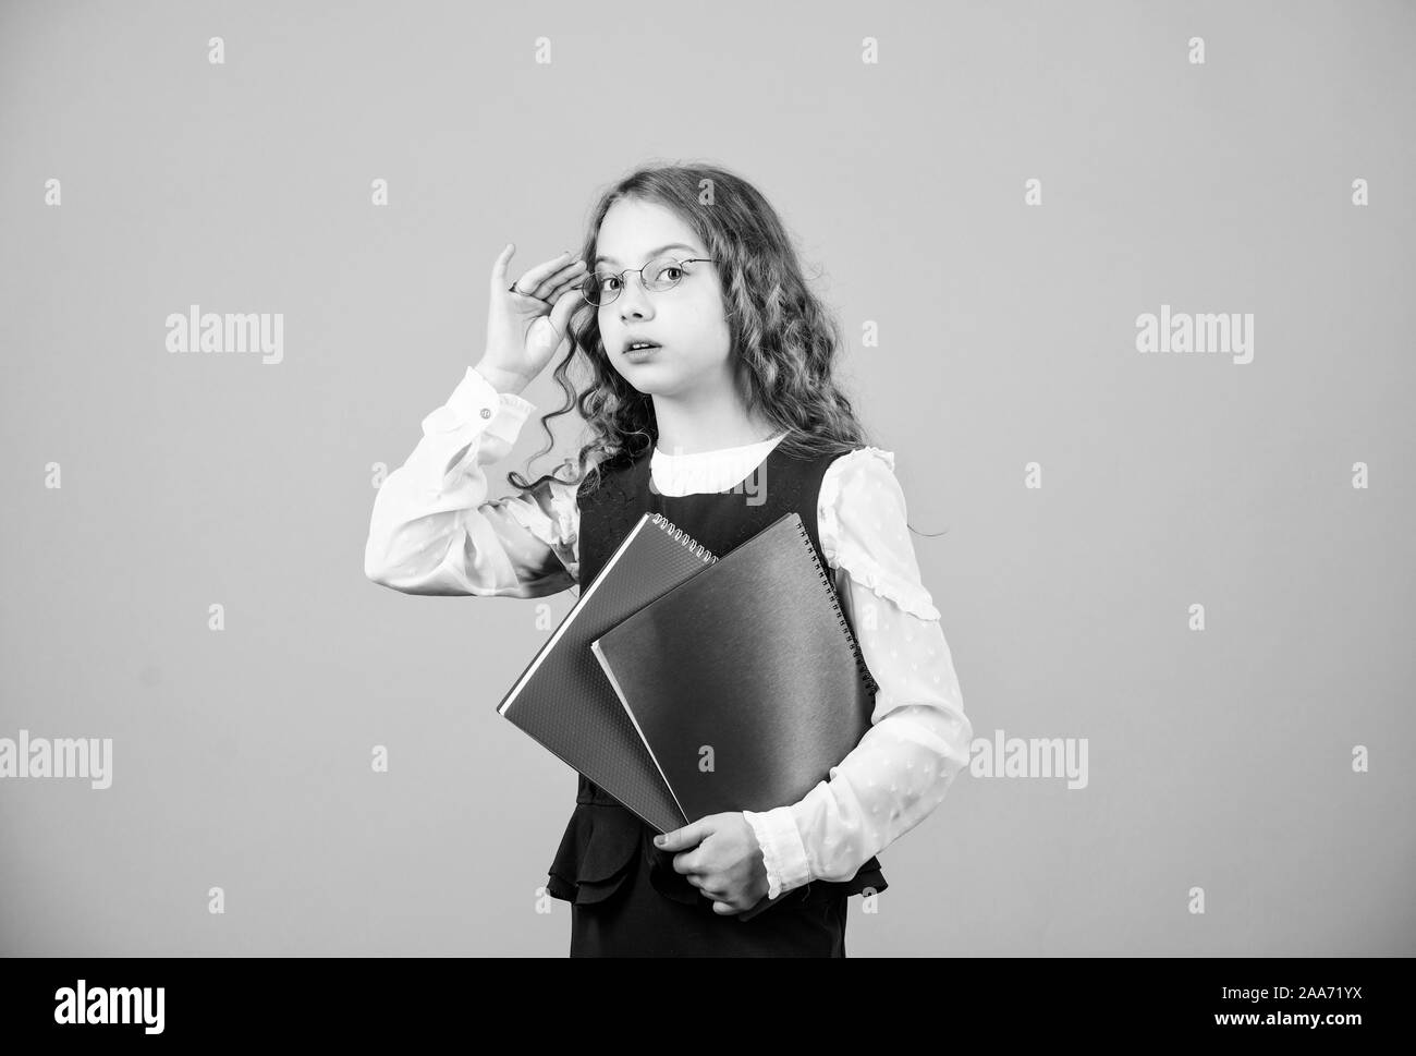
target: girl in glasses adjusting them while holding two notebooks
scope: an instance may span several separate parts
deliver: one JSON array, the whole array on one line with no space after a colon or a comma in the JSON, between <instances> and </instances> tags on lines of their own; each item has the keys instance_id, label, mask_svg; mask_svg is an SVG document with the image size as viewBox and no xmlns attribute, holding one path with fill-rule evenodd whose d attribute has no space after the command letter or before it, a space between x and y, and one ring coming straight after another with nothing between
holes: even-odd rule
<instances>
[{"instance_id":1,"label":"girl in glasses adjusting them while holding two notebooks","mask_svg":"<svg viewBox=\"0 0 1416 1056\"><path fill-rule=\"evenodd\" d=\"M571 903L572 957L844 957L847 896L885 889L875 853L939 805L973 729L893 455L865 442L833 378L837 326L772 206L714 166L632 173L581 255L508 283L513 252L491 266L480 361L378 492L364 571L408 594L534 598L589 584L646 512L719 557L797 512L879 683L871 729L800 802L657 839L581 775L547 889ZM510 452L535 410L520 393L556 353L565 403L532 459L572 405L585 442L487 500L483 468Z\"/></svg>"}]
</instances>

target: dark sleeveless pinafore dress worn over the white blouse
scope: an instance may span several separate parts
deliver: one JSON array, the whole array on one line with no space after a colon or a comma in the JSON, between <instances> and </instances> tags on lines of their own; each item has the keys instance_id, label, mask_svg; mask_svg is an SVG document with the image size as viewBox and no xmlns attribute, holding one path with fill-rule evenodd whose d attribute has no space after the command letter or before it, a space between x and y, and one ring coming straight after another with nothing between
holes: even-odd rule
<instances>
[{"instance_id":1,"label":"dark sleeveless pinafore dress worn over the white blouse","mask_svg":"<svg viewBox=\"0 0 1416 1056\"><path fill-rule=\"evenodd\" d=\"M728 490L670 496L651 486L651 452L606 464L600 486L581 496L582 591L644 513L661 513L722 557L796 512L827 567L817 499L840 455L800 459L779 445ZM845 957L847 897L886 887L872 856L852 879L803 884L745 921L714 913L712 899L674 872L674 852L660 850L653 838L653 828L579 775L575 812L547 882L552 897L571 903L571 957Z\"/></svg>"}]
</instances>

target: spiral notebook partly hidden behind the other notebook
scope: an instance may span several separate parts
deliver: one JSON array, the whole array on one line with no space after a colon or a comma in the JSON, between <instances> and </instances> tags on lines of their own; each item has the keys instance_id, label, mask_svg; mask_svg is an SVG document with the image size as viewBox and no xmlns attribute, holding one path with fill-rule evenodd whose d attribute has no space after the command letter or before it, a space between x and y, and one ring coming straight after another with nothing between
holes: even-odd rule
<instances>
[{"instance_id":1,"label":"spiral notebook partly hidden behind the other notebook","mask_svg":"<svg viewBox=\"0 0 1416 1056\"><path fill-rule=\"evenodd\" d=\"M497 706L657 832L688 822L589 644L716 560L663 515L646 513Z\"/></svg>"}]
</instances>

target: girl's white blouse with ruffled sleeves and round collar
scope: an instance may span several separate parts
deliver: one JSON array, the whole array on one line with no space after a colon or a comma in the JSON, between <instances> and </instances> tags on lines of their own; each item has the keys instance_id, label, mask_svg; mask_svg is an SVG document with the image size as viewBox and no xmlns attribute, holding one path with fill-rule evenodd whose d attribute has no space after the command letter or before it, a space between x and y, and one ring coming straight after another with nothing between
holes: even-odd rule
<instances>
[{"instance_id":1,"label":"girl's white blouse with ruffled sleeves and round collar","mask_svg":"<svg viewBox=\"0 0 1416 1056\"><path fill-rule=\"evenodd\" d=\"M534 410L469 367L379 488L364 574L406 594L440 595L534 598L578 583L576 485L548 481L487 500L483 466L511 451ZM656 448L653 483L664 495L726 490L782 435L691 455ZM973 727L939 610L920 583L893 469L892 452L867 446L837 458L821 479L821 550L879 692L871 729L828 781L796 804L743 811L773 899L813 880L851 879L919 825L969 764Z\"/></svg>"}]
</instances>

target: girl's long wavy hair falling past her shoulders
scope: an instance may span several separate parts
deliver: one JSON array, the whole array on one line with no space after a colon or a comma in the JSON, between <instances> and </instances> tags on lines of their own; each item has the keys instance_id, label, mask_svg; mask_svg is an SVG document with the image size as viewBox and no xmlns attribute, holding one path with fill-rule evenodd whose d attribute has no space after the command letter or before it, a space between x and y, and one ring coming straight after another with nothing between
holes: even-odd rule
<instances>
[{"instance_id":1,"label":"girl's long wavy hair falling past her shoulders","mask_svg":"<svg viewBox=\"0 0 1416 1056\"><path fill-rule=\"evenodd\" d=\"M871 444L833 377L840 327L807 286L780 217L756 187L714 164L639 167L600 196L581 259L595 259L600 224L620 198L673 210L716 262L739 394L749 414L758 411L773 422L773 435L786 432L777 445L783 452L816 458ZM527 481L513 471L507 481L514 488L556 481L579 485L588 495L599 488L602 466L632 461L658 441L654 401L610 364L592 305L582 303L571 315L566 337L569 346L552 371L565 403L541 415L547 445L527 459L527 469L555 446L549 421L572 407L585 421L588 439L582 435L576 458L558 466L566 476L552 472ZM576 366L588 371L581 387L571 380Z\"/></svg>"}]
</instances>

